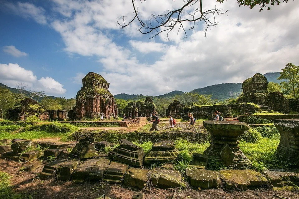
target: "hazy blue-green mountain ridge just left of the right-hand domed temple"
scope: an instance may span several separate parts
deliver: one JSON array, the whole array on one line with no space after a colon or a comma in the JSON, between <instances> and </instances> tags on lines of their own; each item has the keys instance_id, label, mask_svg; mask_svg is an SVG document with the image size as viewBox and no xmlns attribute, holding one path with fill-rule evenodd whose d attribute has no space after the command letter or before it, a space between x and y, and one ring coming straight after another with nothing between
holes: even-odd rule
<instances>
[{"instance_id":1,"label":"hazy blue-green mountain ridge just left of the right-hand domed temple","mask_svg":"<svg viewBox=\"0 0 299 199\"><path fill-rule=\"evenodd\" d=\"M192 90L191 93L213 95L212 99L225 100L236 98L242 93L241 83L223 83Z\"/></svg>"}]
</instances>

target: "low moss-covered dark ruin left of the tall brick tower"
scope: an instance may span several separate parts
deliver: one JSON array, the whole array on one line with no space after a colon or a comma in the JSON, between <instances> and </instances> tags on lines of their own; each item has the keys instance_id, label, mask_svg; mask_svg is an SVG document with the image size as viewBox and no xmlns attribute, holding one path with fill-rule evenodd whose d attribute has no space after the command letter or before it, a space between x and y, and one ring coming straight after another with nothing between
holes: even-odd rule
<instances>
[{"instance_id":1,"label":"low moss-covered dark ruin left of the tall brick tower","mask_svg":"<svg viewBox=\"0 0 299 199\"><path fill-rule=\"evenodd\" d=\"M8 119L15 121L25 121L32 116L36 116L42 121L49 119L49 113L45 107L30 98L21 100L20 103L9 109L7 116Z\"/></svg>"}]
</instances>

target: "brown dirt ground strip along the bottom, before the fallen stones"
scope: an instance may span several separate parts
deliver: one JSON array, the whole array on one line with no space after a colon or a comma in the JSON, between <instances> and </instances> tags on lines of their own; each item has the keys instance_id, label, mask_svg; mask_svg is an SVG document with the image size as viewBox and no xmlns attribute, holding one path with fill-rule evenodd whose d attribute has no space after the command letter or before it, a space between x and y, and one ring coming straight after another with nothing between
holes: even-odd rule
<instances>
[{"instance_id":1,"label":"brown dirt ground strip along the bottom, before the fallen stones","mask_svg":"<svg viewBox=\"0 0 299 199\"><path fill-rule=\"evenodd\" d=\"M42 171L41 165L36 171L25 172L19 171L23 167L21 162L7 161L0 159L0 171L7 172L12 176L11 184L17 192L25 192L36 199L70 199L70 198L91 198L95 199L106 194L114 199L131 199L134 192L143 192L146 199L170 199L174 191L180 194L180 198L211 198L211 199L231 199L231 198L292 198L298 199L298 193L290 191L273 191L273 190L247 190L243 192L225 192L221 189L209 189L199 191L197 189L144 189L137 190L126 187L121 184L108 184L104 182L74 184L70 181L40 180L38 174ZM176 198L178 199L178 198Z\"/></svg>"}]
</instances>

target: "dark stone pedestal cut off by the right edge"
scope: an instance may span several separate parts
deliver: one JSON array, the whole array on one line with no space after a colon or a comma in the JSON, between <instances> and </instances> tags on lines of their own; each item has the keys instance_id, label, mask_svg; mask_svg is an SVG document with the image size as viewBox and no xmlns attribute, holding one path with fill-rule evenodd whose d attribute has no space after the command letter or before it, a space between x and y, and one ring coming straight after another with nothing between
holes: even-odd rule
<instances>
[{"instance_id":1,"label":"dark stone pedestal cut off by the right edge","mask_svg":"<svg viewBox=\"0 0 299 199\"><path fill-rule=\"evenodd\" d=\"M299 119L276 119L274 125L280 133L280 142L276 153L298 167Z\"/></svg>"}]
</instances>

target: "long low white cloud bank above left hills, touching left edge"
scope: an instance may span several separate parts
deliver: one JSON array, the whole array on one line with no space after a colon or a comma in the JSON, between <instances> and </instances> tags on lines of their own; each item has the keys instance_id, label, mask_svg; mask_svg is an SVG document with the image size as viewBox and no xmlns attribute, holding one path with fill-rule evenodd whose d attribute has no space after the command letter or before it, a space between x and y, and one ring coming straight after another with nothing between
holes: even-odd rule
<instances>
[{"instance_id":1,"label":"long low white cloud bank above left hills, touching left edge","mask_svg":"<svg viewBox=\"0 0 299 199\"><path fill-rule=\"evenodd\" d=\"M27 88L45 91L46 95L62 95L66 92L63 85L52 77L41 77L37 80L32 71L13 63L0 64L0 81L10 87L23 83Z\"/></svg>"}]
</instances>

